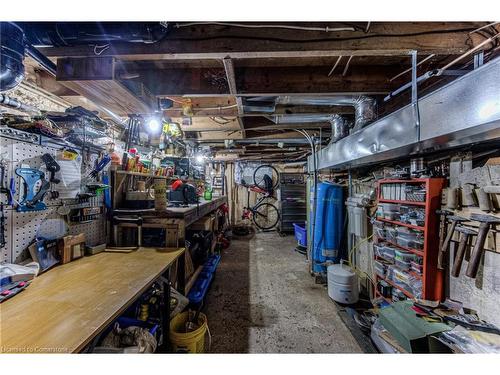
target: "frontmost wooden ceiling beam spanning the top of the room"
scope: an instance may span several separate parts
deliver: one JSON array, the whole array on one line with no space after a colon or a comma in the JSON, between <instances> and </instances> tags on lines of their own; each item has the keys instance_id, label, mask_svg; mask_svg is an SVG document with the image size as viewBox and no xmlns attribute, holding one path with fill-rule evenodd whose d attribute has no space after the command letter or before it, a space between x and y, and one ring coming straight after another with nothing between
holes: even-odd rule
<instances>
[{"instance_id":1,"label":"frontmost wooden ceiling beam spanning the top of the room","mask_svg":"<svg viewBox=\"0 0 500 375\"><path fill-rule=\"evenodd\" d=\"M174 29L154 44L113 43L101 56L123 60L222 60L334 56L392 56L411 50L420 54L461 54L476 40L468 32L483 22L374 22L369 33L299 32L200 26ZM480 36L477 36L479 39ZM476 38L475 35L472 38ZM93 46L42 47L50 57L95 56Z\"/></svg>"}]
</instances>

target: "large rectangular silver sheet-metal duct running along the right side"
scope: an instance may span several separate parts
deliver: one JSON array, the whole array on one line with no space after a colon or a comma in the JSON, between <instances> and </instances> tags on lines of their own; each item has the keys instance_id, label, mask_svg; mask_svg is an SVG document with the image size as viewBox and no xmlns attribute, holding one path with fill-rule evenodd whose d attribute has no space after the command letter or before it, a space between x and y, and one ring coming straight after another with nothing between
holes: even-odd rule
<instances>
[{"instance_id":1,"label":"large rectangular silver sheet-metal duct running along the right side","mask_svg":"<svg viewBox=\"0 0 500 375\"><path fill-rule=\"evenodd\" d=\"M309 171L346 169L500 140L500 58L309 157ZM315 166L316 163L316 166Z\"/></svg>"}]
</instances>

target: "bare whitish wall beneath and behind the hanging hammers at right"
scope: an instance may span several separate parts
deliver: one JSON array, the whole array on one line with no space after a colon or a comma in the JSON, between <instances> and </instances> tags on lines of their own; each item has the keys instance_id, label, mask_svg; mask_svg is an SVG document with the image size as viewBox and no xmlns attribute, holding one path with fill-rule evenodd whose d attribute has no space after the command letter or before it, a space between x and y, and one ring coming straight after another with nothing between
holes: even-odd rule
<instances>
[{"instance_id":1,"label":"bare whitish wall beneath and behind the hanging hammers at right","mask_svg":"<svg viewBox=\"0 0 500 375\"><path fill-rule=\"evenodd\" d=\"M450 252L453 254L453 252ZM478 312L479 317L500 327L500 254L486 251L484 268L476 279L465 276L467 261L460 276L449 276L450 298Z\"/></svg>"}]
</instances>

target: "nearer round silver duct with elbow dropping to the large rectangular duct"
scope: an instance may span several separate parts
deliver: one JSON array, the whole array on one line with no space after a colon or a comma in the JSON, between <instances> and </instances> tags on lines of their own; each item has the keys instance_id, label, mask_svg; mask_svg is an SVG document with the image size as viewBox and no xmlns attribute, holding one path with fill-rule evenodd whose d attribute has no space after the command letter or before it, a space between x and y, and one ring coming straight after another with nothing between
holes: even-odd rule
<instances>
[{"instance_id":1,"label":"nearer round silver duct with elbow dropping to the large rectangular duct","mask_svg":"<svg viewBox=\"0 0 500 375\"><path fill-rule=\"evenodd\" d=\"M376 101L368 96L350 96L350 95L339 95L339 96L278 96L276 98L276 104L283 105L343 105L354 107L354 128L353 130L359 130L363 128L366 124L374 121L377 118L377 106Z\"/></svg>"}]
</instances>

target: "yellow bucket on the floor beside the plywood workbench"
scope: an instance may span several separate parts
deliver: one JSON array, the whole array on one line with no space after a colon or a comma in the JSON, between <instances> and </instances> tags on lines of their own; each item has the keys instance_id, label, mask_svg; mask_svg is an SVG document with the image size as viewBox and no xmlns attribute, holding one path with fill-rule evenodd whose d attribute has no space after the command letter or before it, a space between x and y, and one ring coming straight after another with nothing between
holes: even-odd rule
<instances>
[{"instance_id":1,"label":"yellow bucket on the floor beside the plywood workbench","mask_svg":"<svg viewBox=\"0 0 500 375\"><path fill-rule=\"evenodd\" d=\"M191 320L195 314L194 311L185 311L170 321L170 343L174 353L204 353L205 335L207 333L209 341L211 341L207 317L203 313L198 316L199 328L186 333L186 322Z\"/></svg>"}]
</instances>

